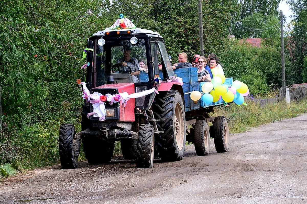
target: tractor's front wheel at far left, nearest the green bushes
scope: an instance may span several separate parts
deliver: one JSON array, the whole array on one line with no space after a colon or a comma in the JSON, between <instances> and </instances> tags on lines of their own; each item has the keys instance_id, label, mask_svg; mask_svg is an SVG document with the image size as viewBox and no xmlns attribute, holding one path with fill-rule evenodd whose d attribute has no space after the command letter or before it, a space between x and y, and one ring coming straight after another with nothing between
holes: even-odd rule
<instances>
[{"instance_id":1,"label":"tractor's front wheel at far left, nearest the green bushes","mask_svg":"<svg viewBox=\"0 0 307 204\"><path fill-rule=\"evenodd\" d=\"M76 134L73 124L60 125L59 153L63 169L76 169L78 156L74 148L74 135Z\"/></svg>"}]
</instances>

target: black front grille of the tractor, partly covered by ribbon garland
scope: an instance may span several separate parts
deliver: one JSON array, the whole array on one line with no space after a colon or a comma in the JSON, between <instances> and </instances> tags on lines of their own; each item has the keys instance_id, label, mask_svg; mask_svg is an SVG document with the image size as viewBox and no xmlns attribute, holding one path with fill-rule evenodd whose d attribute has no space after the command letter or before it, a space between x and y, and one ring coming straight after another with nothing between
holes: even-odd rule
<instances>
[{"instance_id":1,"label":"black front grille of the tractor, partly covered by ribbon garland","mask_svg":"<svg viewBox=\"0 0 307 204\"><path fill-rule=\"evenodd\" d=\"M94 92L98 92L101 93L102 95L106 95L106 94L118 94L118 90L117 88L103 88L103 89L91 89L91 94L93 94ZM108 101L105 102L105 108L107 109L114 109L114 117L105 117L106 121L119 121L119 106L118 103L113 103L112 105L110 105L110 103ZM91 112L93 112L93 106L92 104L90 105L90 110ZM98 121L99 117L96 117L95 115L92 115L89 117L90 120L95 120Z\"/></svg>"}]
</instances>

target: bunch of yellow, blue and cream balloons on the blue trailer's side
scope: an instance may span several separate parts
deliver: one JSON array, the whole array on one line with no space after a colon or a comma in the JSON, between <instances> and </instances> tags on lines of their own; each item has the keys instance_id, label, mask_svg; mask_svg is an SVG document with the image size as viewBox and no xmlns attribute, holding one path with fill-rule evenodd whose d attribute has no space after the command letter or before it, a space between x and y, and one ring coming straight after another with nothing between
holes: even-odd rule
<instances>
[{"instance_id":1,"label":"bunch of yellow, blue and cream balloons on the blue trailer's side","mask_svg":"<svg viewBox=\"0 0 307 204\"><path fill-rule=\"evenodd\" d=\"M200 98L210 104L212 102L217 102L221 98L227 103L235 102L238 105L244 103L244 96L249 94L248 87L245 83L235 80L232 82L229 87L227 84L224 84L226 78L223 74L218 74L212 78L211 82L205 82L202 86L202 92L192 91L191 99L193 101L198 101Z\"/></svg>"}]
</instances>

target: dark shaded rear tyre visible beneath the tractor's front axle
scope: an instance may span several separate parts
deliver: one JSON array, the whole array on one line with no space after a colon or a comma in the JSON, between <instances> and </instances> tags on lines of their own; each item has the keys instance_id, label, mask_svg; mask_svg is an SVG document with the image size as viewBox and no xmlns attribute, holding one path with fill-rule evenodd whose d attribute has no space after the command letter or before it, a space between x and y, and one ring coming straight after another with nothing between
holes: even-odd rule
<instances>
[{"instance_id":1,"label":"dark shaded rear tyre visible beneath the tractor's front axle","mask_svg":"<svg viewBox=\"0 0 307 204\"><path fill-rule=\"evenodd\" d=\"M97 137L82 139L85 158L90 164L103 164L111 161L114 150L114 141L104 141Z\"/></svg>"}]
</instances>

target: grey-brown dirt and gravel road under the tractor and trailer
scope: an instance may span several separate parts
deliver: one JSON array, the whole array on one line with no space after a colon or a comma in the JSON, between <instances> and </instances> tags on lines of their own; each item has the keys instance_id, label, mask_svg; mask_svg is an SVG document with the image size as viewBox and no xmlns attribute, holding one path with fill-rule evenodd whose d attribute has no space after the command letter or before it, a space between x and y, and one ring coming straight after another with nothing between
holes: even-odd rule
<instances>
[{"instance_id":1,"label":"grey-brown dirt and gravel road under the tractor and trailer","mask_svg":"<svg viewBox=\"0 0 307 204\"><path fill-rule=\"evenodd\" d=\"M182 161L107 165L79 162L0 182L0 203L307 203L307 114L231 134L227 153L186 148Z\"/></svg>"}]
</instances>

